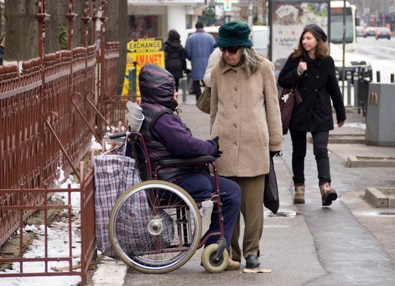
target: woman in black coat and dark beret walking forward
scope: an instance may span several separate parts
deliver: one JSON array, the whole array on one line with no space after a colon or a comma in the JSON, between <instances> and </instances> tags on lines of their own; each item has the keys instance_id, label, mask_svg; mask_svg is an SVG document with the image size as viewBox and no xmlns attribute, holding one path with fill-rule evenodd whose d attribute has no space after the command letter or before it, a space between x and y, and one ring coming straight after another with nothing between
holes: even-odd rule
<instances>
[{"instance_id":1,"label":"woman in black coat and dark beret walking forward","mask_svg":"<svg viewBox=\"0 0 395 286\"><path fill-rule=\"evenodd\" d=\"M294 203L305 202L304 160L307 132L311 132L313 136L322 205L330 205L337 198L336 191L331 187L327 150L329 130L333 130L331 99L338 127L343 126L346 111L333 59L327 55L326 40L325 32L318 25L307 25L299 39L298 48L289 56L278 75L278 84L282 88L293 88L299 81L297 89L303 99L300 104L295 101L289 123Z\"/></svg>"}]
</instances>

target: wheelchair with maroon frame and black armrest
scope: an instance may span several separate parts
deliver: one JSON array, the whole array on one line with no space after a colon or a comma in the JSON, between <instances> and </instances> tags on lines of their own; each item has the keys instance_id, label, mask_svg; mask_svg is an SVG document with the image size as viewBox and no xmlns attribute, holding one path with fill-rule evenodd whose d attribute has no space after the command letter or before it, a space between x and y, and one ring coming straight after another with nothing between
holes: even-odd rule
<instances>
[{"instance_id":1,"label":"wheelchair with maroon frame and black armrest","mask_svg":"<svg viewBox=\"0 0 395 286\"><path fill-rule=\"evenodd\" d=\"M225 270L229 254L221 210L221 196L224 193L219 190L215 158L201 156L161 160L152 174L144 137L138 132L109 136L110 139L120 137L126 137L128 146L131 146L126 156L136 160L142 182L122 193L112 209L109 232L119 258L132 269L143 273L168 273L184 265L209 237L219 236L218 243L204 248L201 263L210 273ZM203 201L195 201L187 191L175 184L158 180L160 169L206 164L213 167L215 191ZM214 204L217 205L219 232L201 238L201 217Z\"/></svg>"}]
</instances>

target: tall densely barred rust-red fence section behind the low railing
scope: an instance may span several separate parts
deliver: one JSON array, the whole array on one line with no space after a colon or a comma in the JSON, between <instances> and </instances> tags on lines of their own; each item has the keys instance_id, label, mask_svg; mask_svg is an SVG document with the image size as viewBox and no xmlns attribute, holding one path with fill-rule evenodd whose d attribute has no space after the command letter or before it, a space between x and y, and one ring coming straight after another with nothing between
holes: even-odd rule
<instances>
[{"instance_id":1,"label":"tall densely barred rust-red fence section behind the low railing","mask_svg":"<svg viewBox=\"0 0 395 286\"><path fill-rule=\"evenodd\" d=\"M52 126L72 165L85 155L95 127L94 102L96 47L75 48L25 61L21 74L16 65L3 67L0 74L0 188L53 187L60 170L71 172ZM1 72L1 69L0 69ZM70 96L72 93L83 96ZM82 110L84 122L74 105ZM42 204L44 197L31 194L31 202ZM12 195L0 193L1 205L13 205ZM29 213L25 210L25 214ZM26 217L26 215L25 215ZM0 211L0 245L16 230L19 213Z\"/></svg>"}]
</instances>

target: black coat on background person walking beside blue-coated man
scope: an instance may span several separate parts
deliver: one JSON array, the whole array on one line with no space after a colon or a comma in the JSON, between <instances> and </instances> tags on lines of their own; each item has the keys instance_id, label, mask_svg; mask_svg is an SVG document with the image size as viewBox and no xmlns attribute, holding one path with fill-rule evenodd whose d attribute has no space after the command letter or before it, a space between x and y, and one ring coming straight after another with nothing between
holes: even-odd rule
<instances>
[{"instance_id":1,"label":"black coat on background person walking beside blue-coated man","mask_svg":"<svg viewBox=\"0 0 395 286\"><path fill-rule=\"evenodd\" d=\"M173 75L175 79L182 78L183 71L187 70L185 50L178 42L164 43L164 64L166 70Z\"/></svg>"}]
</instances>

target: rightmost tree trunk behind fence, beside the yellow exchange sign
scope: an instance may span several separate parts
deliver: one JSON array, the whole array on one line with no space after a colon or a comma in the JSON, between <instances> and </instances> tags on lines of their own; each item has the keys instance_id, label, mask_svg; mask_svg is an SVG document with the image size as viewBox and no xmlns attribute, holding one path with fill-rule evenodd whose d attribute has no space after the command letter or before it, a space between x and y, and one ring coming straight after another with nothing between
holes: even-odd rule
<instances>
[{"instance_id":1,"label":"rightmost tree trunk behind fence, beside the yellow exchange sign","mask_svg":"<svg viewBox=\"0 0 395 286\"><path fill-rule=\"evenodd\" d=\"M119 42L117 86L121 86L126 68L127 0L112 0L108 2L106 5L106 17L108 17L106 21L106 42ZM125 25L125 27L121 25Z\"/></svg>"}]
</instances>

